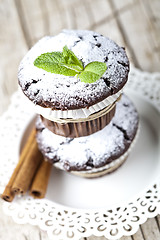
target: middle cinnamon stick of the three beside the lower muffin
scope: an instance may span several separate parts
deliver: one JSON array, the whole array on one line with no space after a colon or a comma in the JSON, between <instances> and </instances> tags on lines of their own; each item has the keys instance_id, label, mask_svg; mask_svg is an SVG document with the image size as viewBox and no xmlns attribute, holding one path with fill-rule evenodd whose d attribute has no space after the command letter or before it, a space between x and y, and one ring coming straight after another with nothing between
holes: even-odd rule
<instances>
[{"instance_id":1,"label":"middle cinnamon stick of the three beside the lower muffin","mask_svg":"<svg viewBox=\"0 0 160 240\"><path fill-rule=\"evenodd\" d=\"M24 194L27 192L33 180L35 172L37 171L42 160L43 156L39 151L36 139L34 138L30 148L28 149L25 161L23 162L12 185L14 193Z\"/></svg>"}]
</instances>

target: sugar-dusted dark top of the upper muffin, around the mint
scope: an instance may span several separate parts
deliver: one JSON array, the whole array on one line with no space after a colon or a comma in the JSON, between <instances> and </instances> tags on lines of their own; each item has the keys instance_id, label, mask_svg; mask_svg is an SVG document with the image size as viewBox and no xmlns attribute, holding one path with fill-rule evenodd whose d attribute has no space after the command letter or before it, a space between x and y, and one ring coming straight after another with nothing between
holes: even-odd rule
<instances>
[{"instance_id":1,"label":"sugar-dusted dark top of the upper muffin, around the mint","mask_svg":"<svg viewBox=\"0 0 160 240\"><path fill-rule=\"evenodd\" d=\"M42 53L67 47L83 62L105 62L107 70L94 83L81 82L76 76L46 72L34 66ZM44 37L26 54L19 66L18 80L24 94L42 107L67 110L89 107L117 93L128 79L129 61L124 48L93 31L64 30Z\"/></svg>"}]
</instances>

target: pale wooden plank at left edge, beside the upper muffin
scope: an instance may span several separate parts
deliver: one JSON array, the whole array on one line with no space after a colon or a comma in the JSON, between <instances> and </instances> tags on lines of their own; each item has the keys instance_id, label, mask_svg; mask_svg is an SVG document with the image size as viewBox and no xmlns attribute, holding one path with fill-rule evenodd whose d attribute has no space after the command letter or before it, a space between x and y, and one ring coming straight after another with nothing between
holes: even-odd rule
<instances>
[{"instance_id":1,"label":"pale wooden plank at left edge, beside the upper muffin","mask_svg":"<svg viewBox=\"0 0 160 240\"><path fill-rule=\"evenodd\" d=\"M13 27L14 26L14 27ZM0 4L0 114L9 103L10 95L17 89L17 69L27 45L21 31L17 10L13 0L2 0Z\"/></svg>"}]
</instances>

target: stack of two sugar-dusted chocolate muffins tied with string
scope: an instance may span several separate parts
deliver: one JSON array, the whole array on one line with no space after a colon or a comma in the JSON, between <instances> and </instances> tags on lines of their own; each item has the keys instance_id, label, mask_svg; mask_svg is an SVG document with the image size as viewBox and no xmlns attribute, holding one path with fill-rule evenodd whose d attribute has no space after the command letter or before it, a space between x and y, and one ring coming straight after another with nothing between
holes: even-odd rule
<instances>
[{"instance_id":1,"label":"stack of two sugar-dusted chocolate muffins tied with string","mask_svg":"<svg viewBox=\"0 0 160 240\"><path fill-rule=\"evenodd\" d=\"M82 65L76 75L73 69L77 71L77 66L67 65L67 74L55 70L60 64L66 67L64 61L59 63L65 49L72 65L76 61L80 68ZM54 69L44 58L53 52L57 54ZM52 61L53 56L48 56ZM65 61L69 59L64 56ZM100 64L106 66L103 74ZM81 78L83 68L87 78ZM37 142L45 159L84 177L101 176L125 161L138 129L137 111L122 95L128 73L124 48L92 31L66 30L44 37L27 53L18 79L39 114Z\"/></svg>"}]
</instances>

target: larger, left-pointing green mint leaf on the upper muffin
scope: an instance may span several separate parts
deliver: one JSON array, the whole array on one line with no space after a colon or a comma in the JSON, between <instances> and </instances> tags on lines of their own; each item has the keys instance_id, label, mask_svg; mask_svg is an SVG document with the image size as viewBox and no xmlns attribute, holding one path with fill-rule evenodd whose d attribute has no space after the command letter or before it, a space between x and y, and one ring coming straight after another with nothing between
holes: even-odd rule
<instances>
[{"instance_id":1,"label":"larger, left-pointing green mint leaf on the upper muffin","mask_svg":"<svg viewBox=\"0 0 160 240\"><path fill-rule=\"evenodd\" d=\"M55 74L65 76L75 76L79 73L76 65L66 63L66 59L61 52L43 53L34 61L34 65L38 68Z\"/></svg>"}]
</instances>

